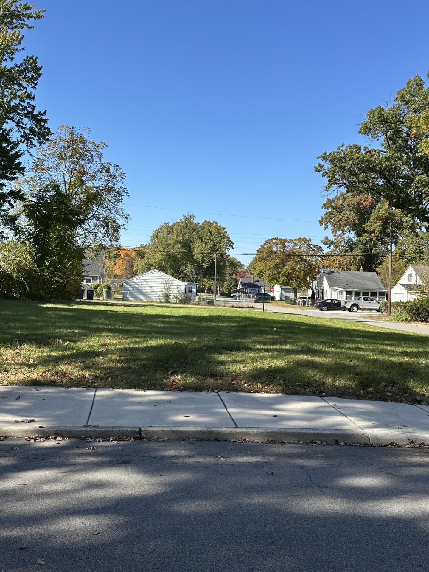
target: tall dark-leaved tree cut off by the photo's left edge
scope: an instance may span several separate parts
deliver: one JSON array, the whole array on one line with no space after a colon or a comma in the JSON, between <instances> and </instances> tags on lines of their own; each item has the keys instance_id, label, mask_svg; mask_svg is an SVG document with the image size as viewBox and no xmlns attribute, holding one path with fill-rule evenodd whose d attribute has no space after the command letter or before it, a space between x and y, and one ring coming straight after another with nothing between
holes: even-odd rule
<instances>
[{"instance_id":1,"label":"tall dark-leaved tree cut off by the photo's left edge","mask_svg":"<svg viewBox=\"0 0 429 572\"><path fill-rule=\"evenodd\" d=\"M6 229L17 231L19 186L10 186L24 172L25 150L41 145L50 135L46 111L37 111L35 89L42 76L37 57L19 57L23 30L43 18L43 10L19 0L0 0L0 238Z\"/></svg>"}]
</instances>

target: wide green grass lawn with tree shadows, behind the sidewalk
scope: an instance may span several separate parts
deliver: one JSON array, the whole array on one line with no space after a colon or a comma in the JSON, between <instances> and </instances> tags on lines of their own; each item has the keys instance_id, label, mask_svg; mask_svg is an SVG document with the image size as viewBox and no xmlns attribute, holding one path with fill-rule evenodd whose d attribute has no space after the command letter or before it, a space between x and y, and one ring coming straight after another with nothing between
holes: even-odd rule
<instances>
[{"instance_id":1,"label":"wide green grass lawn with tree shadows, behind the sidewalk","mask_svg":"<svg viewBox=\"0 0 429 572\"><path fill-rule=\"evenodd\" d=\"M429 404L429 337L252 309L0 301L0 380Z\"/></svg>"}]
</instances>

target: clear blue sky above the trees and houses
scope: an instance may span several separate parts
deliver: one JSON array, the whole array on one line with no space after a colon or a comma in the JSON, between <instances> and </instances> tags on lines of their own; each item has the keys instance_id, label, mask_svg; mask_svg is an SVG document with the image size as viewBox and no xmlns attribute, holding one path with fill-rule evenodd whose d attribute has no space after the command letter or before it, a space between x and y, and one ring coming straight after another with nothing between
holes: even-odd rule
<instances>
[{"instance_id":1,"label":"clear blue sky above the trees and houses","mask_svg":"<svg viewBox=\"0 0 429 572\"><path fill-rule=\"evenodd\" d=\"M25 46L43 65L38 106L51 129L89 125L108 143L127 174L127 246L197 211L221 213L197 220L225 225L245 263L271 236L319 242L317 155L359 140L366 110L429 68L426 1L37 7Z\"/></svg>"}]
</instances>

